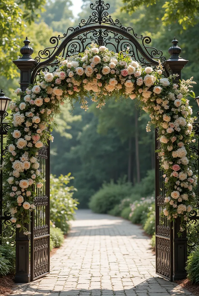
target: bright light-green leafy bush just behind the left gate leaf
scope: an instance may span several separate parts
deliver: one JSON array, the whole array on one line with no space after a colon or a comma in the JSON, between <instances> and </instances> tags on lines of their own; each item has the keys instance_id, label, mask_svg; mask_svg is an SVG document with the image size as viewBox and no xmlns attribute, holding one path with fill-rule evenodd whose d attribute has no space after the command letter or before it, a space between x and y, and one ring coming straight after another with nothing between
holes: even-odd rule
<instances>
[{"instance_id":1,"label":"bright light-green leafy bush just behind the left gate leaf","mask_svg":"<svg viewBox=\"0 0 199 296\"><path fill-rule=\"evenodd\" d=\"M70 173L58 178L50 176L50 219L56 227L59 227L65 234L69 231L69 221L74 219L77 210L77 200L73 199L73 192L77 190L73 186L67 186L70 180Z\"/></svg>"}]
</instances>

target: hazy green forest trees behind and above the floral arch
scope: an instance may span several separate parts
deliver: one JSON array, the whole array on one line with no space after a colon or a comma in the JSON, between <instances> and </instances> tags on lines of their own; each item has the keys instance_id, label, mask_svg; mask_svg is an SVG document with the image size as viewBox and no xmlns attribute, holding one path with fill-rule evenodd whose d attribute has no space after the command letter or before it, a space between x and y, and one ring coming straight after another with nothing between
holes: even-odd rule
<instances>
[{"instance_id":1,"label":"hazy green forest trees behind and above the floral arch","mask_svg":"<svg viewBox=\"0 0 199 296\"><path fill-rule=\"evenodd\" d=\"M73 16L70 0L48 0L46 4L35 1L34 9L33 6L28 6L29 1L23 1L23 4L19 2L18 7L11 2L14 3L12 0L3 1L5 5L9 3L9 9L14 9L13 21L17 25L12 24L15 26L13 31L9 24L12 20L9 20L0 30L0 40L6 48L1 51L0 47L0 71L1 88L12 98L12 91L18 87L19 81L19 73L12 60L17 59L25 36L31 41L34 58L39 50L49 45L51 36L62 35L68 27L78 25L82 18L88 19L91 13L89 5L93 1L83 2L78 17ZM198 81L198 67L195 67L199 62L197 20L186 22L183 18L179 20L172 19L172 15L165 16L163 0L157 1L156 4L155 1L137 1L140 5L136 9L129 9L128 4L132 1L124 1L127 3L127 11L121 11L124 6L121 0L108 2L113 19L118 18L124 26L132 26L138 36L150 36L152 46L161 49L166 57L169 57L168 48L176 36L182 48L182 57L189 60L182 71L183 78L194 76L194 80ZM154 5L146 5L145 2ZM42 5L44 9L41 10ZM20 15L23 15L22 20ZM172 22L166 21L168 17ZM5 28L7 37L2 33ZM15 38L12 38L13 36ZM198 85L194 87L194 91L197 96ZM195 102L193 105L194 112L198 111ZM78 104L73 111L69 106L62 106L62 113L56 119L57 128L53 131L51 173L59 176L70 172L74 176L71 185L78 189L74 193L74 197L80 202L78 207L88 207L90 197L104 182L110 180L119 184L131 182L134 188L137 188L134 193L140 195L139 197L153 194L155 137L154 131L146 132L148 120L148 115L144 111L141 112L136 102L131 100L109 101L102 110L96 109L95 104L90 103L86 112L80 109ZM144 182L148 184L145 186L148 191L143 191Z\"/></svg>"}]
</instances>

